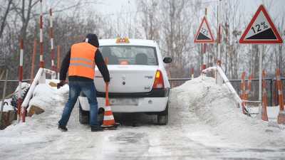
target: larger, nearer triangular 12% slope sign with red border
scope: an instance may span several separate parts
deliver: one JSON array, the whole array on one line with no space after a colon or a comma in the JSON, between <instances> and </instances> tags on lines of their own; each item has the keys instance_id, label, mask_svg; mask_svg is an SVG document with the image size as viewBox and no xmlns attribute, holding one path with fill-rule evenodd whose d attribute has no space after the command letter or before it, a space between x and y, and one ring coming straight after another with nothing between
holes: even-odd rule
<instances>
[{"instance_id":1,"label":"larger, nearer triangular 12% slope sign with red border","mask_svg":"<svg viewBox=\"0 0 285 160\"><path fill-rule=\"evenodd\" d=\"M257 9L252 21L250 21L242 34L239 43L283 43L280 34L263 5Z\"/></svg>"}]
</instances>

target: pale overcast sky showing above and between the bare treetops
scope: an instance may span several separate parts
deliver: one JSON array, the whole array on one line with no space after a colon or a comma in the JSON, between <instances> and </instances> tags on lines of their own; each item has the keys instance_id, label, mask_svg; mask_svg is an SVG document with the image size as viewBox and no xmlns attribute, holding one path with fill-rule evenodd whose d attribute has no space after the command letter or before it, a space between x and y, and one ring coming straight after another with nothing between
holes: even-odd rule
<instances>
[{"instance_id":1,"label":"pale overcast sky showing above and between the bare treetops","mask_svg":"<svg viewBox=\"0 0 285 160\"><path fill-rule=\"evenodd\" d=\"M73 3L70 3L70 2ZM90 4L88 6L84 7L84 10L86 14L83 14L82 16L88 16L87 13L90 13L88 11L95 11L95 13L99 13L99 15L102 15L104 17L108 18L117 18L120 16L118 13L134 13L134 14L128 14L133 16L131 19L135 19L138 17L135 17L135 11L137 10L136 1L135 0L44 0L44 3L46 4L46 9L48 9L50 6L57 6L57 9L61 9L66 6L72 6L73 4L76 4L76 1L95 1L96 3ZM160 0L164 1L164 0ZM189 0L194 1L194 0ZM208 9L208 21L210 23L210 26L214 26L215 19L212 19L214 16L211 16L211 14L214 14L214 12L217 10L217 2L218 0L201 0L204 4L204 7ZM232 0L222 0L223 3L230 3ZM285 14L285 0L239 0L239 9L238 11L244 12L244 15L246 18L246 22L244 24L244 28L249 23L250 19L253 17L254 13L257 11L260 4L264 4L266 6L266 9L269 11L269 15L271 16L274 23L279 23L280 18L284 17ZM58 4L59 3L59 4ZM56 5L57 4L57 5ZM271 6L269 5L271 4ZM56 9L56 10L57 10ZM70 14L70 13L68 13ZM199 13L201 14L201 19L204 16L204 9ZM212 22L212 24L211 24ZM197 22L195 22L197 23ZM198 24L197 24L198 25Z\"/></svg>"}]
</instances>

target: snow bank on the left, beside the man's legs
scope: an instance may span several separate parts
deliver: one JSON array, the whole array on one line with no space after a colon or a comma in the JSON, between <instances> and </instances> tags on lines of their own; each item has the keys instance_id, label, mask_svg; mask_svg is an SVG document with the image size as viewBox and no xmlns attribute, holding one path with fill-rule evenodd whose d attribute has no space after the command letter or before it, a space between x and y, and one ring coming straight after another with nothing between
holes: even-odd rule
<instances>
[{"instance_id":1,"label":"snow bank on the left, beside the man's legs","mask_svg":"<svg viewBox=\"0 0 285 160\"><path fill-rule=\"evenodd\" d=\"M11 148L16 148L19 145L28 146L32 143L45 144L50 137L58 134L57 121L63 110L63 104L66 102L68 85L64 85L58 90L56 87L48 85L51 81L57 82L56 80L46 80L46 84L38 84L29 103L30 106L41 107L45 112L26 117L25 123L18 124L14 121L13 124L0 132L1 144L9 144ZM19 154L24 153L20 150Z\"/></svg>"}]
</instances>

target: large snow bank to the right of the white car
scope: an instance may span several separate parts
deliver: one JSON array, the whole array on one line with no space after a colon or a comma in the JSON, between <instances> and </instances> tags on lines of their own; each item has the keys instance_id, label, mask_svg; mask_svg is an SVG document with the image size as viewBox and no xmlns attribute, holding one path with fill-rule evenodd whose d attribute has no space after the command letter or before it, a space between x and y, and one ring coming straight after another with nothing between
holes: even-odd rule
<instances>
[{"instance_id":1,"label":"large snow bank to the right of the white car","mask_svg":"<svg viewBox=\"0 0 285 160\"><path fill-rule=\"evenodd\" d=\"M177 100L177 105L181 107L188 107L192 116L206 124L212 134L217 134L227 144L232 142L232 145L241 147L284 146L282 126L279 128L271 122L245 116L225 85L215 85L214 78L203 79L195 78L172 89L171 100ZM193 136L195 132L191 134ZM199 140L209 142L207 139Z\"/></svg>"}]
</instances>

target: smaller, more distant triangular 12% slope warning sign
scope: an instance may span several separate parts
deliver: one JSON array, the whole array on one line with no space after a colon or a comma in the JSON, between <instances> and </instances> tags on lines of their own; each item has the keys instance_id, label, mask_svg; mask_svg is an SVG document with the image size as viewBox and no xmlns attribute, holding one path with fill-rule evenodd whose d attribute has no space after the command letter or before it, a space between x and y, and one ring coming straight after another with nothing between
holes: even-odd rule
<instances>
[{"instance_id":1,"label":"smaller, more distant triangular 12% slope warning sign","mask_svg":"<svg viewBox=\"0 0 285 160\"><path fill-rule=\"evenodd\" d=\"M214 43L214 38L205 16L196 33L194 43Z\"/></svg>"}]
</instances>

